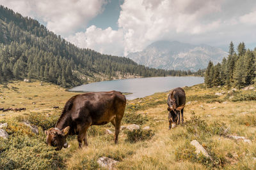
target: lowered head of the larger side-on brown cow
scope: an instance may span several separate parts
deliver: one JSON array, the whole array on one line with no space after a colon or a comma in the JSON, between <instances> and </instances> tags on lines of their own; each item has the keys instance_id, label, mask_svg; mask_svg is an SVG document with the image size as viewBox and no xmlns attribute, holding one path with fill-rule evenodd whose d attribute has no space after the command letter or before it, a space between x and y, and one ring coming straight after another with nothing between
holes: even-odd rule
<instances>
[{"instance_id":1,"label":"lowered head of the larger side-on brown cow","mask_svg":"<svg viewBox=\"0 0 256 170\"><path fill-rule=\"evenodd\" d=\"M66 138L69 129L69 126L62 130L57 127L48 129L48 131L45 131L45 134L47 135L46 144L56 147L56 150L61 150L62 147L67 148L68 144Z\"/></svg>"}]
</instances>

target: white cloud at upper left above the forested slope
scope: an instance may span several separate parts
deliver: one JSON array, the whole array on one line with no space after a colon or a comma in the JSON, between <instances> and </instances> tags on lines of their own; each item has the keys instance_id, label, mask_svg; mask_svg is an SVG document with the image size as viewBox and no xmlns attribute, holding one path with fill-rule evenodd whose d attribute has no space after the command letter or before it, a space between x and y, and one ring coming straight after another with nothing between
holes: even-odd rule
<instances>
[{"instance_id":1,"label":"white cloud at upper left above the forested slope","mask_svg":"<svg viewBox=\"0 0 256 170\"><path fill-rule=\"evenodd\" d=\"M65 36L102 12L106 0L0 0L0 3L22 15L39 18L49 30Z\"/></svg>"}]
</instances>

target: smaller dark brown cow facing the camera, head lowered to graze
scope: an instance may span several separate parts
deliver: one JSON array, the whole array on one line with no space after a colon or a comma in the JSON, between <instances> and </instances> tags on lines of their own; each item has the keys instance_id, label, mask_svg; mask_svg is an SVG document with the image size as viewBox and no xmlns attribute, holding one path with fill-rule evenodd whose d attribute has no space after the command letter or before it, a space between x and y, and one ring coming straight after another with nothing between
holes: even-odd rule
<instances>
[{"instance_id":1,"label":"smaller dark brown cow facing the camera, head lowered to graze","mask_svg":"<svg viewBox=\"0 0 256 170\"><path fill-rule=\"evenodd\" d=\"M180 124L180 112L181 112L181 123L184 123L183 111L186 104L186 94L183 89L177 87L172 89L167 100L168 111L169 111L169 129Z\"/></svg>"}]
</instances>

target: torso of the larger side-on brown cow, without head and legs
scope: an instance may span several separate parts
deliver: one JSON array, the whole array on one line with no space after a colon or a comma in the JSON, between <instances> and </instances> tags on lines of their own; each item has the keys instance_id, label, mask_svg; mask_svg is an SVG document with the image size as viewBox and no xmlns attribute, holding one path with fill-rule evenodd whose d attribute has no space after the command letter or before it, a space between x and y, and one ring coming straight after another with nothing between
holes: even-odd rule
<instances>
[{"instance_id":1,"label":"torso of the larger side-on brown cow, without head and legs","mask_svg":"<svg viewBox=\"0 0 256 170\"><path fill-rule=\"evenodd\" d=\"M73 101L72 120L92 121L92 125L107 124L115 116L123 117L125 104L125 96L116 91L81 94Z\"/></svg>"}]
</instances>

